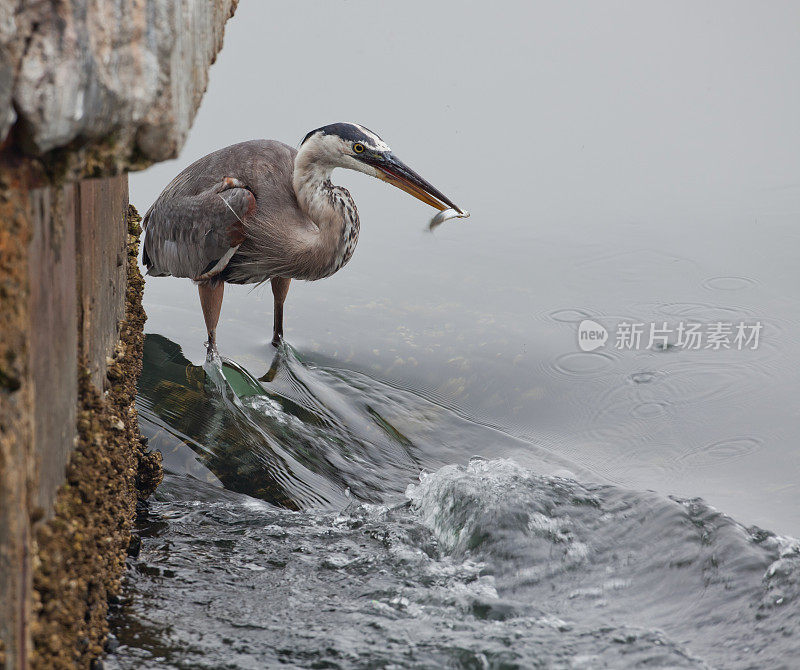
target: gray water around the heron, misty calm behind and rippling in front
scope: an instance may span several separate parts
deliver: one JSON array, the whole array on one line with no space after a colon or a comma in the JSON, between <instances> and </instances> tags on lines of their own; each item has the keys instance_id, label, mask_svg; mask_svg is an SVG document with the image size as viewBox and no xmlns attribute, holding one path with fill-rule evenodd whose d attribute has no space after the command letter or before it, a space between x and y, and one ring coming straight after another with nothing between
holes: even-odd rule
<instances>
[{"instance_id":1,"label":"gray water around the heron, misty calm behind and rippling in front","mask_svg":"<svg viewBox=\"0 0 800 670\"><path fill-rule=\"evenodd\" d=\"M355 256L293 283L277 352L269 289L228 287L222 368L191 283L148 280L168 476L107 665L791 667L798 26L792 3L243 2L140 209L214 148L353 120L472 216L427 234L337 172ZM620 349L624 322L762 329Z\"/></svg>"}]
</instances>

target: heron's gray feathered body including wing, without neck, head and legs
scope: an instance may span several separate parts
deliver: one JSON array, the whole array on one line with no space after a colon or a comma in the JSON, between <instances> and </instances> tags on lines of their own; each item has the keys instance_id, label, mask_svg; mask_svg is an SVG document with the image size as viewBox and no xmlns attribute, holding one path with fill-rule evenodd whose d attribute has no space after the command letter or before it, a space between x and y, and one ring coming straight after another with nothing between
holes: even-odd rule
<instances>
[{"instance_id":1,"label":"heron's gray feathered body including wing, without neck, head and legs","mask_svg":"<svg viewBox=\"0 0 800 670\"><path fill-rule=\"evenodd\" d=\"M292 185L296 153L249 140L185 168L142 222L148 274L249 283L291 272L297 248L317 232Z\"/></svg>"}]
</instances>

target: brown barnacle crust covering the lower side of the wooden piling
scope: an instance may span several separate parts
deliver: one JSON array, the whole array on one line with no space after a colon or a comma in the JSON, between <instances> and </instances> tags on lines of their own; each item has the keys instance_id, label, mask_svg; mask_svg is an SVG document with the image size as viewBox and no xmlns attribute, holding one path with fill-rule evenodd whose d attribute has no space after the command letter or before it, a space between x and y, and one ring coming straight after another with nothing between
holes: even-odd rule
<instances>
[{"instance_id":1,"label":"brown barnacle crust covering the lower side of the wooden piling","mask_svg":"<svg viewBox=\"0 0 800 670\"><path fill-rule=\"evenodd\" d=\"M31 665L43 670L79 667L102 652L108 598L119 590L136 500L161 481L161 454L146 450L136 420L146 317L137 264L140 219L133 207L127 221L125 318L106 369L108 390L92 383L84 365L77 447L55 514L35 532Z\"/></svg>"}]
</instances>

